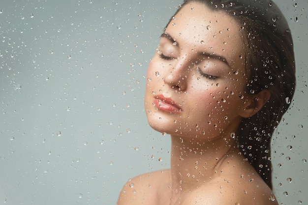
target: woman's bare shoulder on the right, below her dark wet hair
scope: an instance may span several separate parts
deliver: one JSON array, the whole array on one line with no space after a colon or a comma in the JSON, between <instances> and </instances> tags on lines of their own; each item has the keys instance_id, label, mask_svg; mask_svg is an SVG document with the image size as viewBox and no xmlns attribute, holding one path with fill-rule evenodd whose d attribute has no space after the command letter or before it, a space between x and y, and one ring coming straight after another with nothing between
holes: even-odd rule
<instances>
[{"instance_id":1,"label":"woman's bare shoulder on the right, below her dark wet hair","mask_svg":"<svg viewBox=\"0 0 308 205\"><path fill-rule=\"evenodd\" d=\"M213 204L278 205L272 190L254 170L217 173L217 176L191 192L183 203L183 205Z\"/></svg>"}]
</instances>

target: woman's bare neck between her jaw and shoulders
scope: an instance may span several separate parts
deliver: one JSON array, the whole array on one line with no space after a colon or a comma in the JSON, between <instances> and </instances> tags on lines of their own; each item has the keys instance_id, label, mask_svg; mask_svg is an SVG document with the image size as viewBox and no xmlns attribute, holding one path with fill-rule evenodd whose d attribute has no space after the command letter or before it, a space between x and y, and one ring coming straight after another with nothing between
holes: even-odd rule
<instances>
[{"instance_id":1,"label":"woman's bare neck between her jaw and shoulders","mask_svg":"<svg viewBox=\"0 0 308 205\"><path fill-rule=\"evenodd\" d=\"M235 140L230 136L211 142L171 136L172 198L178 200L219 173L221 163L233 153ZM237 153L237 152L235 152Z\"/></svg>"}]
</instances>

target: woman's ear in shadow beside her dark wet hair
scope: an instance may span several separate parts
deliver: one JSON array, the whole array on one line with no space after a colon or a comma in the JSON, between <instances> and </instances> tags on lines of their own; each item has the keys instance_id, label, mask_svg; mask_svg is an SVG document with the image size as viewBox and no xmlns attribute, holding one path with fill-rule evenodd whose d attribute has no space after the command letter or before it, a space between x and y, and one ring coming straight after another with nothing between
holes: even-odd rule
<instances>
[{"instance_id":1,"label":"woman's ear in shadow beside her dark wet hair","mask_svg":"<svg viewBox=\"0 0 308 205\"><path fill-rule=\"evenodd\" d=\"M261 90L255 95L250 95L246 99L245 107L241 112L241 117L252 117L259 112L265 103L270 99L271 93L267 89Z\"/></svg>"}]
</instances>

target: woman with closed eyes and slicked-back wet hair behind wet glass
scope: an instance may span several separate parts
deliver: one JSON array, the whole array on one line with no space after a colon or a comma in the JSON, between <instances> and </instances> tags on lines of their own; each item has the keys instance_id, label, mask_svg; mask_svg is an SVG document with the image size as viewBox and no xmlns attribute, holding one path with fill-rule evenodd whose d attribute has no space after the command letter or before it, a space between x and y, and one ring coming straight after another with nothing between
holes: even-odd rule
<instances>
[{"instance_id":1,"label":"woman with closed eyes and slicked-back wet hair behind wet glass","mask_svg":"<svg viewBox=\"0 0 308 205\"><path fill-rule=\"evenodd\" d=\"M171 169L128 181L118 205L277 205L270 143L295 62L272 1L185 0L147 77L148 121L171 135Z\"/></svg>"}]
</instances>

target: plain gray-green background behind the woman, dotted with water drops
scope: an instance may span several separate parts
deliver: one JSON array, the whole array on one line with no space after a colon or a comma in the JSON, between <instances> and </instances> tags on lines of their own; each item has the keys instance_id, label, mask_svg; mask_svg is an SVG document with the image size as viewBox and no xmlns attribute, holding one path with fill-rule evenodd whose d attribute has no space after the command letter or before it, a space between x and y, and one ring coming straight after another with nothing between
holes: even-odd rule
<instances>
[{"instance_id":1,"label":"plain gray-green background behind the woman, dotted with water drops","mask_svg":"<svg viewBox=\"0 0 308 205\"><path fill-rule=\"evenodd\" d=\"M169 137L148 126L143 93L181 2L0 1L0 204L115 205L129 177L168 168ZM298 87L273 137L274 191L308 205L308 3L276 2Z\"/></svg>"}]
</instances>

